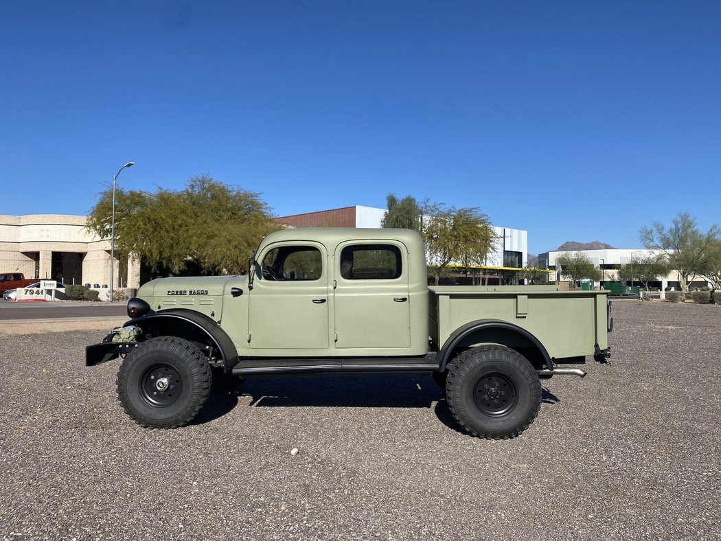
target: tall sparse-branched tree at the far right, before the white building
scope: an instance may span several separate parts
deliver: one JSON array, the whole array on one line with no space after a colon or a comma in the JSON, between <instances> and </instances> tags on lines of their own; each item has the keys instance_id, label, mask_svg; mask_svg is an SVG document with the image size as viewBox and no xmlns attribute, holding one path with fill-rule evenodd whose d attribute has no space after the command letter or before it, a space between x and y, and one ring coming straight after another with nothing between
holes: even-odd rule
<instances>
[{"instance_id":1,"label":"tall sparse-branched tree at the far right, before the white building","mask_svg":"<svg viewBox=\"0 0 721 541\"><path fill-rule=\"evenodd\" d=\"M721 229L716 224L702 233L696 227L696 220L687 212L681 212L669 227L659 221L643 227L640 240L645 247L665 254L669 268L678 271L681 290L689 291L694 277L707 271L709 249L720 236Z\"/></svg>"}]
</instances>

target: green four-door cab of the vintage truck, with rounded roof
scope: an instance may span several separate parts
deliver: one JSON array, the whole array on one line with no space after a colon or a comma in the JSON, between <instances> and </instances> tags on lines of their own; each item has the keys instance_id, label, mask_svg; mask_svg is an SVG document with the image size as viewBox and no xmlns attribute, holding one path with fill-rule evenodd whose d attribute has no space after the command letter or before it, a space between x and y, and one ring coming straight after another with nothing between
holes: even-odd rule
<instances>
[{"instance_id":1,"label":"green four-door cab of the vintage truck, with rounded roof","mask_svg":"<svg viewBox=\"0 0 721 541\"><path fill-rule=\"evenodd\" d=\"M425 355L420 237L401 229L304 232L269 235L257 250L244 348L262 356Z\"/></svg>"}]
</instances>

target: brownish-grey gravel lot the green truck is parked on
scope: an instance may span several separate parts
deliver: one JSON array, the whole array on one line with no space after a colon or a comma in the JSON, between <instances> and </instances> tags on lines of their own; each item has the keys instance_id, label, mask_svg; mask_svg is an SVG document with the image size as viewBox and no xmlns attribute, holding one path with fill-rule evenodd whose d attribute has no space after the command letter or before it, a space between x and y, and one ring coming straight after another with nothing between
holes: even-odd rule
<instances>
[{"instance_id":1,"label":"brownish-grey gravel lot the green truck is parked on","mask_svg":"<svg viewBox=\"0 0 721 541\"><path fill-rule=\"evenodd\" d=\"M721 307L614 302L611 366L461 434L428 378L256 379L139 428L107 326L0 335L4 539L721 539ZM291 456L291 449L299 453Z\"/></svg>"}]
</instances>

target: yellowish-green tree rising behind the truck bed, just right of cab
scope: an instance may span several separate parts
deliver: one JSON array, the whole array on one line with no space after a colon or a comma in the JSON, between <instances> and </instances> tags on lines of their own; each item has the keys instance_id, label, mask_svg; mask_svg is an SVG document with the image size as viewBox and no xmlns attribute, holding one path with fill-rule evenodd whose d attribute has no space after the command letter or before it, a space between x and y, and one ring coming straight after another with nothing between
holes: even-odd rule
<instances>
[{"instance_id":1,"label":"yellowish-green tree rising behind the truck bed, just right of cab","mask_svg":"<svg viewBox=\"0 0 721 541\"><path fill-rule=\"evenodd\" d=\"M448 265L482 265L496 237L488 216L477 207L446 207L426 200L421 208L420 235L428 271L435 283L448 273Z\"/></svg>"}]
</instances>

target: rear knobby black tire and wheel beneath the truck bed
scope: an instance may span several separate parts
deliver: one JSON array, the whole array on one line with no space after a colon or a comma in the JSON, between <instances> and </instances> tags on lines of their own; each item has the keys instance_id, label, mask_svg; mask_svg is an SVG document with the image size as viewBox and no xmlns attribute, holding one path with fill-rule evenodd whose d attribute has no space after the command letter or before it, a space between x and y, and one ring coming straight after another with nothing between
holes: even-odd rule
<instances>
[{"instance_id":1,"label":"rear knobby black tire and wheel beneath the truck bed","mask_svg":"<svg viewBox=\"0 0 721 541\"><path fill-rule=\"evenodd\" d=\"M541 408L541 382L528 360L510 348L481 346L448 365L446 398L469 434L508 439L521 434Z\"/></svg>"}]
</instances>

